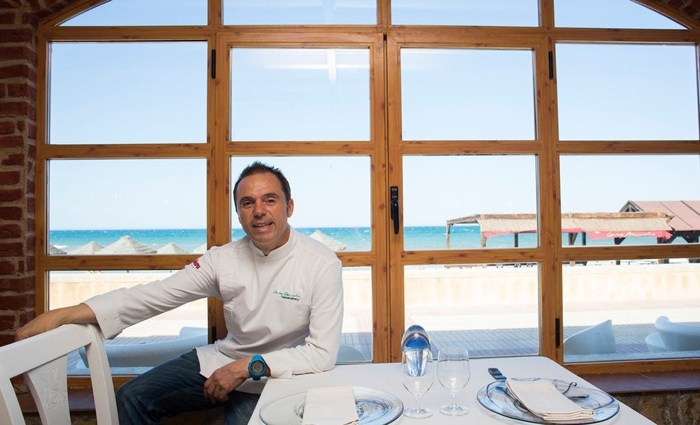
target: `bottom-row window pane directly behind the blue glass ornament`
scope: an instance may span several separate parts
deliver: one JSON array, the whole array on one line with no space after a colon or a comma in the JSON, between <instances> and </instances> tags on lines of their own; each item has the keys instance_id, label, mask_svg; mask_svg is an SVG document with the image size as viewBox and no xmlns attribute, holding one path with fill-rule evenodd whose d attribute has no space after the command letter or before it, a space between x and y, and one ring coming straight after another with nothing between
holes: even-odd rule
<instances>
[{"instance_id":1,"label":"bottom-row window pane directly behind the blue glass ornament","mask_svg":"<svg viewBox=\"0 0 700 425\"><path fill-rule=\"evenodd\" d=\"M538 266L405 266L405 326L472 357L538 354Z\"/></svg>"}]
</instances>

